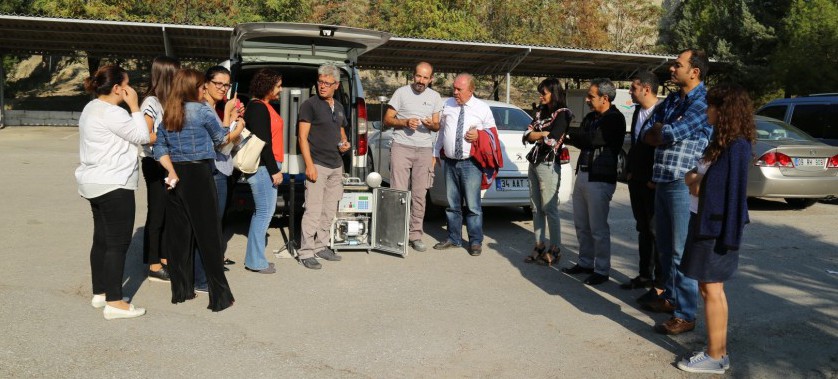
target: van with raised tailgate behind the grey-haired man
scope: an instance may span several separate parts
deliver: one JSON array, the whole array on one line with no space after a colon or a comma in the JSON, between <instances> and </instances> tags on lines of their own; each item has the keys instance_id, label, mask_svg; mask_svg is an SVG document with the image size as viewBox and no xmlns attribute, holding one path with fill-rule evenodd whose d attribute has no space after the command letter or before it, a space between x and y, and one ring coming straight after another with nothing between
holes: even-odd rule
<instances>
[{"instance_id":1,"label":"van with raised tailgate behind the grey-haired man","mask_svg":"<svg viewBox=\"0 0 838 379\"><path fill-rule=\"evenodd\" d=\"M333 25L260 22L238 24L233 29L230 59L223 65L230 69L243 102L250 98L250 80L257 70L272 68L282 74L279 101L271 103L285 122L285 178L279 187L277 210L289 203L292 177L296 184L295 202L298 207L302 204L305 163L297 147L297 114L306 99L316 96L317 68L324 63L341 70L335 100L346 112L346 136L352 145L350 153L344 155L344 170L352 176L366 176L367 108L356 63L358 56L389 38L390 34L384 32ZM252 209L250 187L244 178L236 183L230 207Z\"/></svg>"}]
</instances>

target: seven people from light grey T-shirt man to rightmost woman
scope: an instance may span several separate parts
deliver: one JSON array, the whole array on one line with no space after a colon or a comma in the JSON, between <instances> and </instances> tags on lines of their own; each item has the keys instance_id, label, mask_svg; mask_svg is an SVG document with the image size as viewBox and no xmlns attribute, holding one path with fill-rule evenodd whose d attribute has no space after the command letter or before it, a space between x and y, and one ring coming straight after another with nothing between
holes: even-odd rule
<instances>
[{"instance_id":1,"label":"seven people from light grey T-shirt man to rightmost woman","mask_svg":"<svg viewBox=\"0 0 838 379\"><path fill-rule=\"evenodd\" d=\"M637 105L630 121L627 176L639 274L620 287L649 288L637 300L646 309L672 314L654 327L670 335L695 329L700 294L707 348L685 357L678 367L724 373L730 366L724 281L736 271L749 221L747 168L756 132L747 91L735 84L708 91L708 69L703 51L682 51L670 67L671 82L679 90L662 101L654 74L639 72L631 78L629 93ZM488 105L473 96L471 75L458 75L453 97L443 103L428 87L432 70L430 64L419 63L413 83L399 88L388 104L384 123L395 128L392 186L412 191L409 240L413 249L424 251L425 193L434 166L444 163L448 236L434 248L465 247L477 256L483 240L480 190L491 181L487 169L495 153L495 121ZM526 159L535 237L532 254L524 260L551 266L561 259L558 189L560 152L567 143L579 149L572 198L579 258L562 272L587 275L585 284L600 285L610 277L608 213L626 132L626 120L613 104L616 89L608 79L591 80L585 98L591 112L578 128L569 127L575 115L558 79L543 80L537 90L540 104L522 136L533 145ZM438 131L435 143L432 131ZM467 239L462 236L464 218Z\"/></svg>"}]
</instances>

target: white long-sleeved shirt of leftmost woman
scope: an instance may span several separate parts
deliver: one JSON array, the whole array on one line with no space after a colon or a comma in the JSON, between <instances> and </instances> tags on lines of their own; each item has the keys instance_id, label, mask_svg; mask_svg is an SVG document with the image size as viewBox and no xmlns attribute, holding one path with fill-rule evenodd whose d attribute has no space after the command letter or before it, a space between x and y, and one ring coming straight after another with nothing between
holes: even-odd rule
<instances>
[{"instance_id":1,"label":"white long-sleeved shirt of leftmost woman","mask_svg":"<svg viewBox=\"0 0 838 379\"><path fill-rule=\"evenodd\" d=\"M80 164L76 169L79 194L85 196L82 190L88 184L136 189L137 145L148 143L149 138L141 112L129 115L124 109L99 99L87 103L79 117Z\"/></svg>"}]
</instances>

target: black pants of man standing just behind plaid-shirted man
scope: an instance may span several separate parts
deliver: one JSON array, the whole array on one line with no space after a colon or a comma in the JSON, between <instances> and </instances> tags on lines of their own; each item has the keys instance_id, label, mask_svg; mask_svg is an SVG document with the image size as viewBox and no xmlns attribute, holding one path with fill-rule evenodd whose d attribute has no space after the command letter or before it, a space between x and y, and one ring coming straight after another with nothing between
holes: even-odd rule
<instances>
[{"instance_id":1,"label":"black pants of man standing just behind plaid-shirted man","mask_svg":"<svg viewBox=\"0 0 838 379\"><path fill-rule=\"evenodd\" d=\"M655 248L655 190L647 187L646 182L629 181L628 186L631 211L637 222L637 247L640 254L638 275L654 279L655 286L663 288L663 273L657 264L658 250Z\"/></svg>"}]
</instances>

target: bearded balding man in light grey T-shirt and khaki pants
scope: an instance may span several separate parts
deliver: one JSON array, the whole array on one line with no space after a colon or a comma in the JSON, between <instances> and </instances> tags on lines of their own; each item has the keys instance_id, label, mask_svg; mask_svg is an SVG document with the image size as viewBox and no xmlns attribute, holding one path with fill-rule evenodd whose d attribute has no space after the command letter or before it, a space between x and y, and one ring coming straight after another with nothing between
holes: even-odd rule
<instances>
[{"instance_id":1,"label":"bearded balding man in light grey T-shirt and khaki pants","mask_svg":"<svg viewBox=\"0 0 838 379\"><path fill-rule=\"evenodd\" d=\"M433 184L434 139L432 131L439 130L442 98L428 88L433 81L433 67L419 62L413 83L396 90L387 104L384 125L394 128L390 147L391 185L395 189L411 191L410 246L425 251L422 224L425 218L425 194Z\"/></svg>"}]
</instances>

